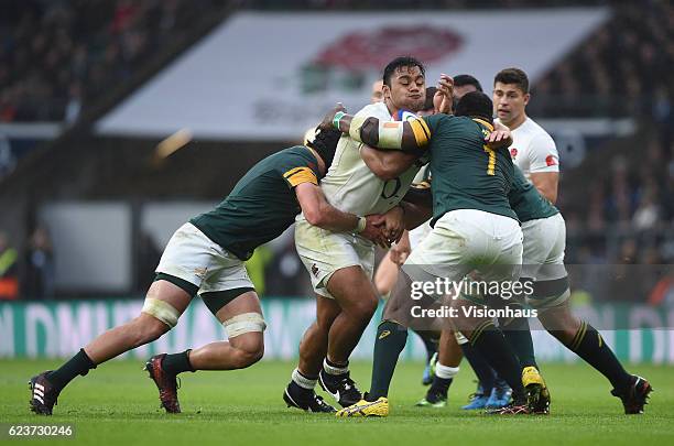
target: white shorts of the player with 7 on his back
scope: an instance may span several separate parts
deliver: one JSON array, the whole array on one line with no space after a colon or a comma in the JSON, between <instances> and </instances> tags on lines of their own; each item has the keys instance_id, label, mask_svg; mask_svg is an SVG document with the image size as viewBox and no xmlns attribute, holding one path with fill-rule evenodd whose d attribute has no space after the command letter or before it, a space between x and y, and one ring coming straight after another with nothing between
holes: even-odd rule
<instances>
[{"instance_id":1,"label":"white shorts of the player with 7 on his back","mask_svg":"<svg viewBox=\"0 0 674 446\"><path fill-rule=\"evenodd\" d=\"M522 230L513 218L476 209L452 210L412 251L403 271L413 281L460 281L477 271L483 281L515 281Z\"/></svg>"}]
</instances>

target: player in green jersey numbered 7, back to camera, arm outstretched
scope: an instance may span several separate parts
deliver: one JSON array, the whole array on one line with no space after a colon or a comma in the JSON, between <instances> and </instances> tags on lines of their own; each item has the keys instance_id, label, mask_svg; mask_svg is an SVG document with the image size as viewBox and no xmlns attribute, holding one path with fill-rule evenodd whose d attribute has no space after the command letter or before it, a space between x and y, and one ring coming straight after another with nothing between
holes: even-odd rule
<instances>
[{"instance_id":1,"label":"player in green jersey numbered 7, back to camera, arm outstretched","mask_svg":"<svg viewBox=\"0 0 674 446\"><path fill-rule=\"evenodd\" d=\"M518 278L522 232L507 198L513 175L512 160L504 146L493 149L483 141L493 131L491 107L486 95L470 93L457 105L457 115L464 116L436 115L396 128L372 118L335 116L341 131L371 146L418 149L428 144L434 176L433 230L406 260L384 309L374 346L370 392L357 404L339 411L337 416L389 414L387 394L398 356L406 341L404 320L409 320L405 311L411 304L412 281L436 278L458 281L474 270L490 281ZM455 308L472 306L468 296L458 297L453 301ZM466 318L461 314L459 311L454 324L491 359L512 387L518 407L513 413L529 413L521 367L503 335L491 319Z\"/></svg>"}]
</instances>

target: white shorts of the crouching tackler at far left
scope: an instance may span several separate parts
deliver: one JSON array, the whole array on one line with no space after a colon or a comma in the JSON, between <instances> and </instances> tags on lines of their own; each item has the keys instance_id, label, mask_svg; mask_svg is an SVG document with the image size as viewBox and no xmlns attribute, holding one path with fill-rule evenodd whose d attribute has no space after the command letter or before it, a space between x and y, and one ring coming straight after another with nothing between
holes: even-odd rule
<instances>
[{"instance_id":1,"label":"white shorts of the crouching tackler at far left","mask_svg":"<svg viewBox=\"0 0 674 446\"><path fill-rule=\"evenodd\" d=\"M253 287L243 262L191 222L181 226L171 237L156 272L194 284L199 295Z\"/></svg>"}]
</instances>

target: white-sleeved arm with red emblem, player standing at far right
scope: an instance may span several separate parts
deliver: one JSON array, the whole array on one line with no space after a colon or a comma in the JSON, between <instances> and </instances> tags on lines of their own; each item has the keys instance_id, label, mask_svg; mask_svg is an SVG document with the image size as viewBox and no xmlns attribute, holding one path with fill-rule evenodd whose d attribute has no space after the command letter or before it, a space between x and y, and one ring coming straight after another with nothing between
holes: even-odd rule
<instances>
[{"instance_id":1,"label":"white-sleeved arm with red emblem, player standing at far right","mask_svg":"<svg viewBox=\"0 0 674 446\"><path fill-rule=\"evenodd\" d=\"M541 195L553 205L557 202L559 183L559 155L555 141L547 134L541 134L531 141L530 180Z\"/></svg>"}]
</instances>

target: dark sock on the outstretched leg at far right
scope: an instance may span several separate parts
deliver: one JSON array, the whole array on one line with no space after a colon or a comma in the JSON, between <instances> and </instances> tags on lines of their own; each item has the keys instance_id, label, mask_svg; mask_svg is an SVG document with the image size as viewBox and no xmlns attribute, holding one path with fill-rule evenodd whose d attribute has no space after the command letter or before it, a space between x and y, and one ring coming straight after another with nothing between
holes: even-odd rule
<instances>
[{"instance_id":1,"label":"dark sock on the outstretched leg at far right","mask_svg":"<svg viewBox=\"0 0 674 446\"><path fill-rule=\"evenodd\" d=\"M629 385L631 376L606 345L601 335L585 320L580 322L580 328L572 342L565 346L608 378L613 388L624 389Z\"/></svg>"}]
</instances>

